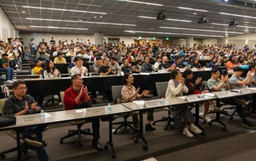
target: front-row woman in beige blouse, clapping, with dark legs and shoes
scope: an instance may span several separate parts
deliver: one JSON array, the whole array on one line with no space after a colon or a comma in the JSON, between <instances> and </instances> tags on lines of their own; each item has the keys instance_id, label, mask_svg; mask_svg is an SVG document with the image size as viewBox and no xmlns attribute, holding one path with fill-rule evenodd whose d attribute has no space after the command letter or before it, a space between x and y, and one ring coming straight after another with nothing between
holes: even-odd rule
<instances>
[{"instance_id":1,"label":"front-row woman in beige blouse, clapping, with dark legs and shoes","mask_svg":"<svg viewBox=\"0 0 256 161\"><path fill-rule=\"evenodd\" d=\"M130 102L133 101L135 99L139 99L142 98L143 96L145 96L146 94L149 93L148 90L143 90L143 92L141 94L138 94L139 89L140 88L135 88L132 83L134 81L134 77L132 76L131 73L125 73L123 76L123 88L121 91L122 94L122 102ZM154 120L153 117L153 113L154 113L154 109L150 109L147 111L147 122L146 122L146 131L154 131L155 127L152 127L151 125L151 121ZM133 125L136 129L136 134L134 137L134 141L137 142L138 141L138 136L139 136L139 120L138 120L138 113L137 112L133 112L132 113L132 120L133 120Z\"/></svg>"}]
</instances>

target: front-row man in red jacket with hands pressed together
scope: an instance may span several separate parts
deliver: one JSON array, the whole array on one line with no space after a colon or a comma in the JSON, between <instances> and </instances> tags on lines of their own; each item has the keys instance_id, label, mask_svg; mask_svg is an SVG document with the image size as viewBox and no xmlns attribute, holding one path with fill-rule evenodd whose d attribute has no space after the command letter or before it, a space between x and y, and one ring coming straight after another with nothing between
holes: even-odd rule
<instances>
[{"instance_id":1,"label":"front-row man in red jacket with hands pressed together","mask_svg":"<svg viewBox=\"0 0 256 161\"><path fill-rule=\"evenodd\" d=\"M65 110L91 107L91 98L88 95L88 89L82 85L83 80L81 74L74 74L71 77L72 85L64 92ZM92 123L93 140L92 146L102 151L103 148L98 141L100 139L100 119L88 119Z\"/></svg>"}]
</instances>

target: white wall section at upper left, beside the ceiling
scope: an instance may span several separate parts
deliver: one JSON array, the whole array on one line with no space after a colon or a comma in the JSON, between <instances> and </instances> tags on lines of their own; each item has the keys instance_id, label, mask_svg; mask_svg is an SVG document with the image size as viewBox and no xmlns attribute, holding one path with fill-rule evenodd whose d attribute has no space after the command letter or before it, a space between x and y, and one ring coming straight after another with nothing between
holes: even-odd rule
<instances>
[{"instance_id":1,"label":"white wall section at upper left, beside the ceiling","mask_svg":"<svg viewBox=\"0 0 256 161\"><path fill-rule=\"evenodd\" d=\"M10 22L9 18L6 16L4 11L0 8L0 40L7 41L7 38L19 37L19 31Z\"/></svg>"}]
</instances>

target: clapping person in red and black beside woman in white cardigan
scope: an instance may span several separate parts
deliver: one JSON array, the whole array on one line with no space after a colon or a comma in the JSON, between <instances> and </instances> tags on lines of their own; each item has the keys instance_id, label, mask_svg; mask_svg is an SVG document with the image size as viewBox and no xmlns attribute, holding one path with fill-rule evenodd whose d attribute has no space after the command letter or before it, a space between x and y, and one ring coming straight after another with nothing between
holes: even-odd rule
<instances>
[{"instance_id":1,"label":"clapping person in red and black beside woman in white cardigan","mask_svg":"<svg viewBox=\"0 0 256 161\"><path fill-rule=\"evenodd\" d=\"M198 91L199 83L202 80L202 77L199 77L195 80L195 83L192 83L192 78L193 78L193 72L190 69L187 69L183 72L183 78L185 79L185 86L189 89L188 93L183 93L183 95L192 95L192 94L201 94L203 93L209 93L208 90L204 91ZM204 114L203 114L203 119L205 121L210 122L211 118L209 115L209 107L211 112L219 112L220 108L216 107L212 100L207 100L204 101Z\"/></svg>"}]
</instances>

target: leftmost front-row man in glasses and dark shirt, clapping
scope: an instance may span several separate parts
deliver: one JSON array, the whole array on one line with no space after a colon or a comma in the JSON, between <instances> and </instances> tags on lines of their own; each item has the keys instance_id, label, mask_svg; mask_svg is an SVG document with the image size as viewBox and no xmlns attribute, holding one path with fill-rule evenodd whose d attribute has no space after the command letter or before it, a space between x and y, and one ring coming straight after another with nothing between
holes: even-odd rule
<instances>
[{"instance_id":1,"label":"leftmost front-row man in glasses and dark shirt, clapping","mask_svg":"<svg viewBox=\"0 0 256 161\"><path fill-rule=\"evenodd\" d=\"M37 105L35 99L26 95L27 86L24 81L18 80L12 84L13 95L9 97L4 104L3 113L7 116L21 116L38 114L41 112L41 107ZM46 125L32 126L24 128L20 134L25 138L24 141L32 145L37 152L39 161L48 161L49 158L43 144L42 131Z\"/></svg>"}]
</instances>

